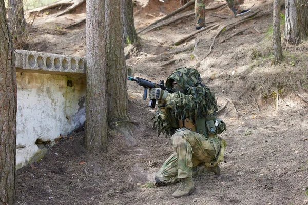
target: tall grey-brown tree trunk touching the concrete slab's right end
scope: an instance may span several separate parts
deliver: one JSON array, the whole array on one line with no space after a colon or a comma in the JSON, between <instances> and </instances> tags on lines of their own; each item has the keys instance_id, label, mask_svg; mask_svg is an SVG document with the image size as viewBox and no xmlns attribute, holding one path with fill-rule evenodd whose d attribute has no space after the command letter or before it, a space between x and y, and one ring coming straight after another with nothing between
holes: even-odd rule
<instances>
[{"instance_id":1,"label":"tall grey-brown tree trunk touching the concrete slab's right end","mask_svg":"<svg viewBox=\"0 0 308 205\"><path fill-rule=\"evenodd\" d=\"M105 1L88 0L86 14L85 145L97 152L107 148Z\"/></svg>"}]
</instances>

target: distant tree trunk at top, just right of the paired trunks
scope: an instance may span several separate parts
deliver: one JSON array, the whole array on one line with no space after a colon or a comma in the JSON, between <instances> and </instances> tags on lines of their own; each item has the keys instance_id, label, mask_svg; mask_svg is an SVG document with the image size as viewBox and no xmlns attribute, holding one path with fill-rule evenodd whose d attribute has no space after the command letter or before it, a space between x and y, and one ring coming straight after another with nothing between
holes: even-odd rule
<instances>
[{"instance_id":1,"label":"distant tree trunk at top, just right of the paired trunks","mask_svg":"<svg viewBox=\"0 0 308 205\"><path fill-rule=\"evenodd\" d=\"M123 0L122 4L124 6L124 40L127 44L135 43L138 40L138 36L134 27L132 0Z\"/></svg>"}]
</instances>

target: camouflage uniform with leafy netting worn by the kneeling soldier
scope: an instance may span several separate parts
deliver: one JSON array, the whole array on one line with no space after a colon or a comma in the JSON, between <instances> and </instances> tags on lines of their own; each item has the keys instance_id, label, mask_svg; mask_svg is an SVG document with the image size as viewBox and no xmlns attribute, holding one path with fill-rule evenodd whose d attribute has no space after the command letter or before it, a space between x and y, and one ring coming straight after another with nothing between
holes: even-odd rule
<instances>
[{"instance_id":1,"label":"camouflage uniform with leafy netting worn by the kneeling soldier","mask_svg":"<svg viewBox=\"0 0 308 205\"><path fill-rule=\"evenodd\" d=\"M192 127L185 126L189 125L189 121L195 121L194 118L198 118L197 116L199 116L198 119L201 119L200 115L202 113L203 118L206 118L203 121L204 123L216 120L215 96L206 86L201 86L201 78L197 70L180 68L174 73L176 74L171 74L168 77L166 86L170 88L170 80L175 80L182 88L185 88L187 93L175 92L168 94L165 101L159 102L155 125L159 132L164 131L166 135L172 135L172 144L176 150L165 161L155 176L156 181L161 185L170 185L179 182L182 178L205 173L206 168L216 167L218 163L223 161L226 147L225 140L217 136L217 131L214 134L208 134L208 130L202 131L202 129L207 129L205 125L204 128L196 127L196 125ZM196 91L198 89L199 92L197 91L191 95L192 91L190 92L189 90ZM200 95L199 98L196 97L197 93ZM202 104L202 101L206 102ZM197 114L198 112L202 113ZM182 120L184 120L184 126L179 129L181 127L180 122L183 122Z\"/></svg>"}]
</instances>

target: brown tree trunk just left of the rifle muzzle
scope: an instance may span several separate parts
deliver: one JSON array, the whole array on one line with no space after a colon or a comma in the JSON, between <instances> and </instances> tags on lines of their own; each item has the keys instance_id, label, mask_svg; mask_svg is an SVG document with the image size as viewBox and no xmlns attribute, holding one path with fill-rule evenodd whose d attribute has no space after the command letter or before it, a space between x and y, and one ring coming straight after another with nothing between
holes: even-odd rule
<instances>
[{"instance_id":1,"label":"brown tree trunk just left of the rifle muzzle","mask_svg":"<svg viewBox=\"0 0 308 205\"><path fill-rule=\"evenodd\" d=\"M106 70L109 123L129 119L122 11L123 0L106 0Z\"/></svg>"}]
</instances>

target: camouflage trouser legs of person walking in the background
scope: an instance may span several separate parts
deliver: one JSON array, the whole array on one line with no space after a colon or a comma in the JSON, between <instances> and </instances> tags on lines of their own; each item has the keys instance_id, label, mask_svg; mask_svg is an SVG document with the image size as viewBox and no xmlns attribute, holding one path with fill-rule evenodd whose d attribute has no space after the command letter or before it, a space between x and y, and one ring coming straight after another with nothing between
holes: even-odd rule
<instances>
[{"instance_id":1,"label":"camouflage trouser legs of person walking in the background","mask_svg":"<svg viewBox=\"0 0 308 205\"><path fill-rule=\"evenodd\" d=\"M243 11L237 0L226 0L229 8L233 11L234 15L239 14ZM195 14L197 20L197 26L205 26L205 0L195 1Z\"/></svg>"}]
</instances>

